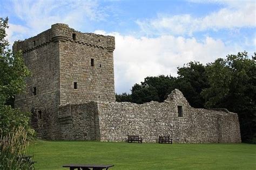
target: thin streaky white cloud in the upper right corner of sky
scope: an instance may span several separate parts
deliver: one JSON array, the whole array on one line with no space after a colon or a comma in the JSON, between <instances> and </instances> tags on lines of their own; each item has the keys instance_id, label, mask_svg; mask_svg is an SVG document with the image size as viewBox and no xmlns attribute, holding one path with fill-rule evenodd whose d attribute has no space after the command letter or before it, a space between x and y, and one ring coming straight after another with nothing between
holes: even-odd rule
<instances>
[{"instance_id":1,"label":"thin streaky white cloud in the upper right corner of sky","mask_svg":"<svg viewBox=\"0 0 256 170\"><path fill-rule=\"evenodd\" d=\"M223 2L224 3L224 2ZM255 2L225 2L226 8L212 12L204 17L184 15L158 15L157 18L137 20L147 34L188 34L206 30L233 29L256 26Z\"/></svg>"}]
</instances>

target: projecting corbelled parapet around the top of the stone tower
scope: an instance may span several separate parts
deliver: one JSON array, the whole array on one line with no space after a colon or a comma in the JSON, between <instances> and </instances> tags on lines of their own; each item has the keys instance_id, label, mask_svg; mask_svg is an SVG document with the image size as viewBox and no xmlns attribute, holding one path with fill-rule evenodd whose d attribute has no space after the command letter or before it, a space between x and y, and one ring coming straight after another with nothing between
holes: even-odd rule
<instances>
[{"instance_id":1,"label":"projecting corbelled parapet around the top of the stone tower","mask_svg":"<svg viewBox=\"0 0 256 170\"><path fill-rule=\"evenodd\" d=\"M15 41L12 47L14 52L22 49L23 53L42 47L50 42L70 41L81 45L95 48L107 49L109 52L114 51L114 37L103 36L95 33L82 33L69 27L67 24L53 24L51 29L37 34L35 37L23 41Z\"/></svg>"}]
</instances>

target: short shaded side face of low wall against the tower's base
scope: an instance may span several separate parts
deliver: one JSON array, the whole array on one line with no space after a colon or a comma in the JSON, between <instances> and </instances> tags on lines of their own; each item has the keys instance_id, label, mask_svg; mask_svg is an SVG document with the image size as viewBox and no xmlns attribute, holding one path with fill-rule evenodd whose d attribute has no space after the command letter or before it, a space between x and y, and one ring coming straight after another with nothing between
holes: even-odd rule
<instances>
[{"instance_id":1,"label":"short shaded side face of low wall against the tower's base","mask_svg":"<svg viewBox=\"0 0 256 170\"><path fill-rule=\"evenodd\" d=\"M100 140L97 102L62 106L58 119L60 139Z\"/></svg>"}]
</instances>

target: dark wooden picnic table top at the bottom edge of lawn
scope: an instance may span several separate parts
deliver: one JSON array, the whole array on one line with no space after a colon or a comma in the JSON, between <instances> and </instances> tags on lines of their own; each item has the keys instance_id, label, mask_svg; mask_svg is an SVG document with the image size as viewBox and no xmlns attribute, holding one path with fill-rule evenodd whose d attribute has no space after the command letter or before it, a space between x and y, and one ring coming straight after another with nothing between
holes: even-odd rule
<instances>
[{"instance_id":1,"label":"dark wooden picnic table top at the bottom edge of lawn","mask_svg":"<svg viewBox=\"0 0 256 170\"><path fill-rule=\"evenodd\" d=\"M70 170L73 169L82 169L82 170L90 170L92 168L93 170L102 170L102 169L109 169L114 165L92 165L92 164L69 164L69 165L63 165L63 167L67 167Z\"/></svg>"}]
</instances>

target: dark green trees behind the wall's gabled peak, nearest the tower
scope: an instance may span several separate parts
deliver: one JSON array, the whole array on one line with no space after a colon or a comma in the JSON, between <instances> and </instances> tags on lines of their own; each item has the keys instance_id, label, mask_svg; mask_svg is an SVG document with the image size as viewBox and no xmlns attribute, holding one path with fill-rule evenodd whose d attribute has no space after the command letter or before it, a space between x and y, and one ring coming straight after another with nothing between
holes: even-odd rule
<instances>
[{"instance_id":1,"label":"dark green trees behind the wall's gabled peak, nearest the tower","mask_svg":"<svg viewBox=\"0 0 256 170\"><path fill-rule=\"evenodd\" d=\"M163 102L174 89L182 91L187 101L195 108L204 107L201 91L208 87L205 66L199 62L190 62L178 68L178 77L150 76L140 84L134 84L132 94L116 96L118 102L145 103L150 101Z\"/></svg>"}]
</instances>

